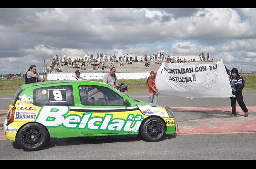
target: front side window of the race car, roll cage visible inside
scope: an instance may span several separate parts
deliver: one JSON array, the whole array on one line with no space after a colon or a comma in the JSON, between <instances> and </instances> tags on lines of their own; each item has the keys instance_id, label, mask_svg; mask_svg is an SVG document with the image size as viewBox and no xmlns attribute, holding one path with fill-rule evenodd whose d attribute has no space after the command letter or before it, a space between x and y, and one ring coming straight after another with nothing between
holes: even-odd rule
<instances>
[{"instance_id":1,"label":"front side window of the race car, roll cage visible inside","mask_svg":"<svg viewBox=\"0 0 256 169\"><path fill-rule=\"evenodd\" d=\"M124 106L124 99L116 92L103 86L78 86L81 104L97 106Z\"/></svg>"}]
</instances>

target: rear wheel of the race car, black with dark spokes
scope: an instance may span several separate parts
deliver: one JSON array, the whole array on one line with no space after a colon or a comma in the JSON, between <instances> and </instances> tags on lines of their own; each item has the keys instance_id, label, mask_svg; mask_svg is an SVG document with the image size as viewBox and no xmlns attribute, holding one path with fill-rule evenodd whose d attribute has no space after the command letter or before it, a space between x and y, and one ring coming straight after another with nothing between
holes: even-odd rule
<instances>
[{"instance_id":1,"label":"rear wheel of the race car, black with dark spokes","mask_svg":"<svg viewBox=\"0 0 256 169\"><path fill-rule=\"evenodd\" d=\"M17 134L17 143L25 151L41 149L48 140L45 127L38 123L24 125Z\"/></svg>"}]
</instances>

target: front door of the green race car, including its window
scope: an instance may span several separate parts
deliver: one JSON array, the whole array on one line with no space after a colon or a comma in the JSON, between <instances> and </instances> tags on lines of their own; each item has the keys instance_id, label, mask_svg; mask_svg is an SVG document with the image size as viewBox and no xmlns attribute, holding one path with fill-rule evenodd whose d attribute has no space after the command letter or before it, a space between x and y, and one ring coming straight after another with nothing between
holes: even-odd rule
<instances>
[{"instance_id":1,"label":"front door of the green race car, including its window","mask_svg":"<svg viewBox=\"0 0 256 169\"><path fill-rule=\"evenodd\" d=\"M131 134L138 130L134 121L137 107L130 99L125 105L125 98L108 85L84 85L79 82L77 89L76 113L81 117L79 129L84 135L119 135ZM105 85L105 86L104 86ZM75 94L75 95L77 95ZM133 121L132 121L133 119Z\"/></svg>"}]
</instances>

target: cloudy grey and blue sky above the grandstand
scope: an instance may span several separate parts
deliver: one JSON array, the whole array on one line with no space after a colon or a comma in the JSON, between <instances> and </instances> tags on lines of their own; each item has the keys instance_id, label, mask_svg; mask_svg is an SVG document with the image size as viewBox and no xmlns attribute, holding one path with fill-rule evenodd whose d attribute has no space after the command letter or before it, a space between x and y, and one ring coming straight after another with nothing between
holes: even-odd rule
<instances>
[{"instance_id":1,"label":"cloudy grey and blue sky above the grandstand","mask_svg":"<svg viewBox=\"0 0 256 169\"><path fill-rule=\"evenodd\" d=\"M199 55L256 71L256 9L0 9L0 74L53 55Z\"/></svg>"}]
</instances>

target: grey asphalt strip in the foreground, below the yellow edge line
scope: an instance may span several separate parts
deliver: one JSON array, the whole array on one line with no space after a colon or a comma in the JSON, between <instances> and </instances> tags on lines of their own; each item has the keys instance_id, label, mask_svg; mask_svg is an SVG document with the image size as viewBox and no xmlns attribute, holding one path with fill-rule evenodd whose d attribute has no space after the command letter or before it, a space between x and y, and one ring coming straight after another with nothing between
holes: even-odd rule
<instances>
[{"instance_id":1,"label":"grey asphalt strip in the foreground, below the yellow edge line","mask_svg":"<svg viewBox=\"0 0 256 169\"><path fill-rule=\"evenodd\" d=\"M0 140L0 159L256 159L255 139L255 133L178 135L160 142L75 138L51 142L33 152Z\"/></svg>"}]
</instances>

